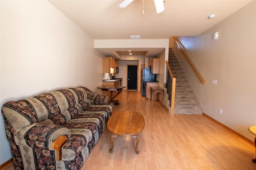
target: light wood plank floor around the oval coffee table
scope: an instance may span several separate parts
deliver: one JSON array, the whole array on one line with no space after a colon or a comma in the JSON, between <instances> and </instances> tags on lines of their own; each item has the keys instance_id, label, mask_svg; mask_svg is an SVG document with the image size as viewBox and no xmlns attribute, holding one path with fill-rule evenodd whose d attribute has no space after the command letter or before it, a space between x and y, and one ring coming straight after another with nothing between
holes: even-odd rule
<instances>
[{"instance_id":1,"label":"light wood plank floor around the oval coffee table","mask_svg":"<svg viewBox=\"0 0 256 170\"><path fill-rule=\"evenodd\" d=\"M120 105L115 105L113 113L129 109L144 116L140 154L132 136L116 137L110 154L106 129L82 170L256 170L254 146L204 115L170 115L159 102L153 107L154 101L136 91L123 90L115 99Z\"/></svg>"}]
</instances>

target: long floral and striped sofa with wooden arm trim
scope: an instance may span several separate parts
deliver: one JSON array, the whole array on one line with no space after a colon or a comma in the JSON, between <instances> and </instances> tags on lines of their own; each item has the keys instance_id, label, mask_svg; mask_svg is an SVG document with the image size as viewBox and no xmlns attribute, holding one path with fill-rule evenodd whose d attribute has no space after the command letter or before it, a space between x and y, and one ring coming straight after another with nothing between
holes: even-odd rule
<instances>
[{"instance_id":1,"label":"long floral and striped sofa with wooden arm trim","mask_svg":"<svg viewBox=\"0 0 256 170\"><path fill-rule=\"evenodd\" d=\"M2 115L14 168L80 169L112 114L107 102L86 87L6 102Z\"/></svg>"}]
</instances>

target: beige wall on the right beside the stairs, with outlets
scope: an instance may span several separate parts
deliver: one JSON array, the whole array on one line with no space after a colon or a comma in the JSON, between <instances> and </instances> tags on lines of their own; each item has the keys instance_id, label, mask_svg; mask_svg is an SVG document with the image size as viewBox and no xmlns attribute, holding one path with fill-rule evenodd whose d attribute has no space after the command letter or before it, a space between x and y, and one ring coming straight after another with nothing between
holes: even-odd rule
<instances>
[{"instance_id":1,"label":"beige wall on the right beside the stairs, with outlets","mask_svg":"<svg viewBox=\"0 0 256 170\"><path fill-rule=\"evenodd\" d=\"M213 40L213 33L219 33ZM256 125L256 1L198 37L179 37L202 78L172 46L203 112L254 141L248 127ZM217 85L212 84L217 80ZM223 113L220 114L220 108Z\"/></svg>"}]
</instances>

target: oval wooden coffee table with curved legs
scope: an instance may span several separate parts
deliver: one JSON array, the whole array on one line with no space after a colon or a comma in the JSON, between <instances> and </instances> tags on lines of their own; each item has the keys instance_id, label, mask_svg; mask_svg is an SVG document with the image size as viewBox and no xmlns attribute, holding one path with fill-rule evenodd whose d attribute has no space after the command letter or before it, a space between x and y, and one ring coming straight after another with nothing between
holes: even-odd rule
<instances>
[{"instance_id":1,"label":"oval wooden coffee table with curved legs","mask_svg":"<svg viewBox=\"0 0 256 170\"><path fill-rule=\"evenodd\" d=\"M136 138L136 152L137 154L140 153L138 150L138 144L140 141L139 133L145 127L145 120L142 114L137 111L117 111L114 113L107 123L107 128L110 131L110 142L112 144L112 149L110 149L110 153L114 150L114 142L113 139L117 135L121 136L128 136L132 135Z\"/></svg>"}]
</instances>

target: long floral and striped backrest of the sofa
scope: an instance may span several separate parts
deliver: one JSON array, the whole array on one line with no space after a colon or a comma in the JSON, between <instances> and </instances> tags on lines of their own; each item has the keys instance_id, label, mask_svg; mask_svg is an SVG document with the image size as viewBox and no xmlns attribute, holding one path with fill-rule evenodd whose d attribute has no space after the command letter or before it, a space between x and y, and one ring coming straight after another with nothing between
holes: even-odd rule
<instances>
[{"instance_id":1,"label":"long floral and striped backrest of the sofa","mask_svg":"<svg viewBox=\"0 0 256 170\"><path fill-rule=\"evenodd\" d=\"M91 90L82 86L57 90L17 102L6 102L2 107L2 115L6 128L14 135L24 127L46 119L56 125L65 125L91 105L93 96Z\"/></svg>"}]
</instances>

